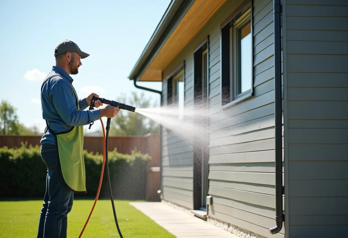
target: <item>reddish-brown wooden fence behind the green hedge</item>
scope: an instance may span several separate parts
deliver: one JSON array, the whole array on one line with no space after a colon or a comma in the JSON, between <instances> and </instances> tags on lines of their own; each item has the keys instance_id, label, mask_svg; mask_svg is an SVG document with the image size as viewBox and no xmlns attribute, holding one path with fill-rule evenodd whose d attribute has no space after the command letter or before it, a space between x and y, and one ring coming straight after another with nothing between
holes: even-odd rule
<instances>
[{"instance_id":1,"label":"reddish-brown wooden fence behind the green hedge","mask_svg":"<svg viewBox=\"0 0 348 238\"><path fill-rule=\"evenodd\" d=\"M0 135L0 148L20 147L21 142L27 142L27 145L40 145L41 136L17 136L17 135ZM109 151L117 148L122 154L130 154L133 150L143 154L149 154L151 161L149 164L149 174L147 182L147 199L148 201L159 201L160 178L159 178L159 157L160 157L160 137L158 134L149 134L145 136L109 136ZM84 149L88 152L103 153L103 137L84 136Z\"/></svg>"}]
</instances>

